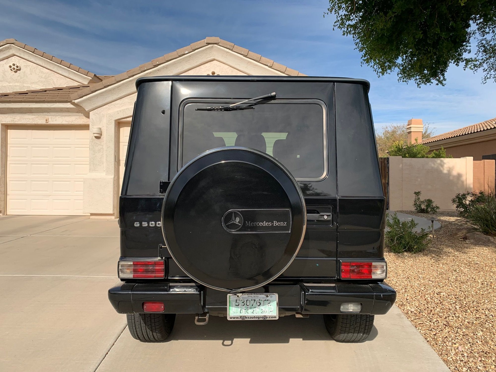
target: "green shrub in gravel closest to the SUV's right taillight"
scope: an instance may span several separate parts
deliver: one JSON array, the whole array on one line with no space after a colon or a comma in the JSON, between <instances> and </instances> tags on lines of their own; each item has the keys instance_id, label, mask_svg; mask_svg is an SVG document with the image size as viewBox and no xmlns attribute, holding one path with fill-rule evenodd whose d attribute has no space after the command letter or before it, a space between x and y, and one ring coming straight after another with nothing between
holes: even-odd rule
<instances>
[{"instance_id":1,"label":"green shrub in gravel closest to the SUV's right taillight","mask_svg":"<svg viewBox=\"0 0 496 372\"><path fill-rule=\"evenodd\" d=\"M388 231L385 233L386 246L393 253L421 252L430 243L430 232L421 229L420 233L415 231L419 224L415 220L400 221L398 215L394 213L386 220Z\"/></svg>"}]
</instances>

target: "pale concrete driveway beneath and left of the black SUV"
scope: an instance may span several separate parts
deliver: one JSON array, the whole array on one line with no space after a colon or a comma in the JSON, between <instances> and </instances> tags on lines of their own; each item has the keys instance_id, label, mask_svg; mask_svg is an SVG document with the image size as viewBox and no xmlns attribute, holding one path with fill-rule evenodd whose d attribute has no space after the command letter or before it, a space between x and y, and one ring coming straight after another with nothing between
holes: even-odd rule
<instances>
[{"instance_id":1,"label":"pale concrete driveway beneath and left of the black SUV","mask_svg":"<svg viewBox=\"0 0 496 372\"><path fill-rule=\"evenodd\" d=\"M0 217L0 371L449 371L394 307L369 340L333 341L321 316L196 326L140 343L107 300L117 220Z\"/></svg>"}]
</instances>

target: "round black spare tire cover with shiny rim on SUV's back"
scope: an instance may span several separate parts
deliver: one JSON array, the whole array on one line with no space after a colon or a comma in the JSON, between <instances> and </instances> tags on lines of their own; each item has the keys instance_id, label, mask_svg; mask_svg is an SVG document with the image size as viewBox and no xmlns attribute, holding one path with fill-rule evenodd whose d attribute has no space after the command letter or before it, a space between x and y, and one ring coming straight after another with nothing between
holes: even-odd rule
<instances>
[{"instance_id":1,"label":"round black spare tire cover with shiny rim on SUV's back","mask_svg":"<svg viewBox=\"0 0 496 372\"><path fill-rule=\"evenodd\" d=\"M298 183L273 157L246 147L207 151L172 180L162 232L195 281L245 291L278 277L300 249L307 224Z\"/></svg>"}]
</instances>

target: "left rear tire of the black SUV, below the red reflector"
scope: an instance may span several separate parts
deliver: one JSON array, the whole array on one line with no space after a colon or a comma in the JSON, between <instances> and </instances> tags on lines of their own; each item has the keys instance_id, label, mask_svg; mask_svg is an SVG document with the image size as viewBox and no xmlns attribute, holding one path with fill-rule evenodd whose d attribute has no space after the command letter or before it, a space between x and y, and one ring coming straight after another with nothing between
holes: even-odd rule
<instances>
[{"instance_id":1,"label":"left rear tire of the black SUV, below the red reflector","mask_svg":"<svg viewBox=\"0 0 496 372\"><path fill-rule=\"evenodd\" d=\"M176 314L127 314L131 336L143 342L165 341L172 332Z\"/></svg>"}]
</instances>

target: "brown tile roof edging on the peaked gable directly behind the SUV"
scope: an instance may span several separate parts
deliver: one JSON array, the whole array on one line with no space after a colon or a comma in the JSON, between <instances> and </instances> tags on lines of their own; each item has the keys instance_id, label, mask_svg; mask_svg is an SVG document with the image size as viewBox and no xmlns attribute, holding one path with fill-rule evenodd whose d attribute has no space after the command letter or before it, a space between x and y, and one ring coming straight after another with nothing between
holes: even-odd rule
<instances>
[{"instance_id":1,"label":"brown tile roof edging on the peaked gable directly behind the SUV","mask_svg":"<svg viewBox=\"0 0 496 372\"><path fill-rule=\"evenodd\" d=\"M265 57L260 56L259 54L250 52L248 49L239 47L237 45L234 45L233 43L222 40L218 37L206 37L203 40L197 41L197 42L192 43L192 44L190 44L184 48L178 49L174 52L171 52L171 53L168 53L164 56L158 57L154 60L151 60L150 62L140 64L139 66L131 68L130 70L127 70L123 73L120 73L119 75L110 76L110 77L106 78L105 80L103 80L102 82L98 82L96 84L91 84L90 88L81 89L81 90L75 92L72 95L72 99L81 98L81 97L86 96L90 93L93 93L97 90L103 89L109 85L113 85L113 84L118 83L119 81L125 80L128 77L132 77L134 75L137 75L141 72L149 70L149 69L156 67L160 64L163 64L165 62L175 60L176 58L184 56L187 53L193 52L197 49L206 47L208 45L218 45L220 47L226 48L230 51L241 54L241 55L243 55L243 56L245 56L245 57L247 57L253 61L259 62L265 66L273 68L276 71L283 72L287 75L307 76L307 75L305 75L305 74L303 74L297 70L294 70L294 69L289 68L283 64L269 60L268 58L265 58Z\"/></svg>"}]
</instances>

